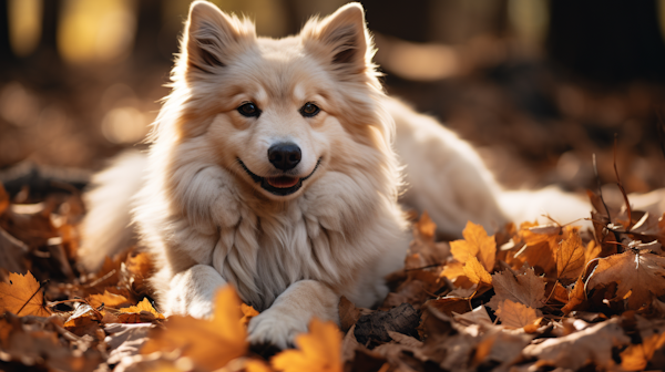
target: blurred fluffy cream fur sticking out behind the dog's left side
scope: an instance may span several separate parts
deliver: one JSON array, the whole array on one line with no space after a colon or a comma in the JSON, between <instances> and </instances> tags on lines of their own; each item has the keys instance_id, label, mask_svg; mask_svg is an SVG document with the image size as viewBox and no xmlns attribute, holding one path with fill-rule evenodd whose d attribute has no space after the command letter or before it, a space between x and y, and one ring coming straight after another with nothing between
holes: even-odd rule
<instances>
[{"instance_id":1,"label":"blurred fluffy cream fur sticking out behind the dog's left side","mask_svg":"<svg viewBox=\"0 0 665 372\"><path fill-rule=\"evenodd\" d=\"M125 152L92 178L92 188L84 195L88 214L81 226L83 244L78 251L79 261L88 271L98 270L105 257L135 242L132 199L143 185L146 162L145 154Z\"/></svg>"}]
</instances>

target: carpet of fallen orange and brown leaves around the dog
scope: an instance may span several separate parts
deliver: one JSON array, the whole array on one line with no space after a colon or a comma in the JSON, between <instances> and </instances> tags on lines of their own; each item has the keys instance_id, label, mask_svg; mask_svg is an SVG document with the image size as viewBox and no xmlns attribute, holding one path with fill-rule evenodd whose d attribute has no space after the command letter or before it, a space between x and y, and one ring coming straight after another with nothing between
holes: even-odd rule
<instances>
[{"instance_id":1,"label":"carpet of fallen orange and brown leaves around the dog","mask_svg":"<svg viewBox=\"0 0 665 372\"><path fill-rule=\"evenodd\" d=\"M290 350L246 341L257 314L231 287L212 319L165 318L145 252L78 268L75 190L10 200L0 187L0 370L641 371L665 366L665 219L605 205L577 226L523 223L434 241L424 214L378 309L339 303ZM589 224L591 221L591 224Z\"/></svg>"}]
</instances>

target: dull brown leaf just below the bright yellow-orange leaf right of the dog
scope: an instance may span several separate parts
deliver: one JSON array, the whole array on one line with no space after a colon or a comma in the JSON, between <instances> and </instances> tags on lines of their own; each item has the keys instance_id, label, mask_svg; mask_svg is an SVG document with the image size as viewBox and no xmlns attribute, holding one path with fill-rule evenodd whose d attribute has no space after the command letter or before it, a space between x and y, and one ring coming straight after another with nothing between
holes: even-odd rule
<instances>
[{"instance_id":1,"label":"dull brown leaf just below the bright yellow-orange leaf right of the dog","mask_svg":"<svg viewBox=\"0 0 665 372\"><path fill-rule=\"evenodd\" d=\"M545 280L538 277L533 269L523 273L504 270L492 276L492 285L497 293L488 306L493 310L499 309L499 303L504 300L523 303L533 309L540 309L545 300Z\"/></svg>"}]
</instances>

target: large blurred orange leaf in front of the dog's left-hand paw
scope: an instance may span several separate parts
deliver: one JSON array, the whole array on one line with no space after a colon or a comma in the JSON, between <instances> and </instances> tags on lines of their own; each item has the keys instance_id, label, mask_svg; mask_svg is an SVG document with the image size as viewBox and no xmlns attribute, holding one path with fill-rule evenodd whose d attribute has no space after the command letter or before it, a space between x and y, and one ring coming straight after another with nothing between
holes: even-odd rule
<instances>
[{"instance_id":1,"label":"large blurred orange leaf in front of the dog's left-hand paw","mask_svg":"<svg viewBox=\"0 0 665 372\"><path fill-rule=\"evenodd\" d=\"M215 298L212 320L173 316L164 330L155 330L141 349L142 354L180 350L194 365L205 370L223 368L247 353L247 330L241 324L241 299L231 286Z\"/></svg>"}]
</instances>

